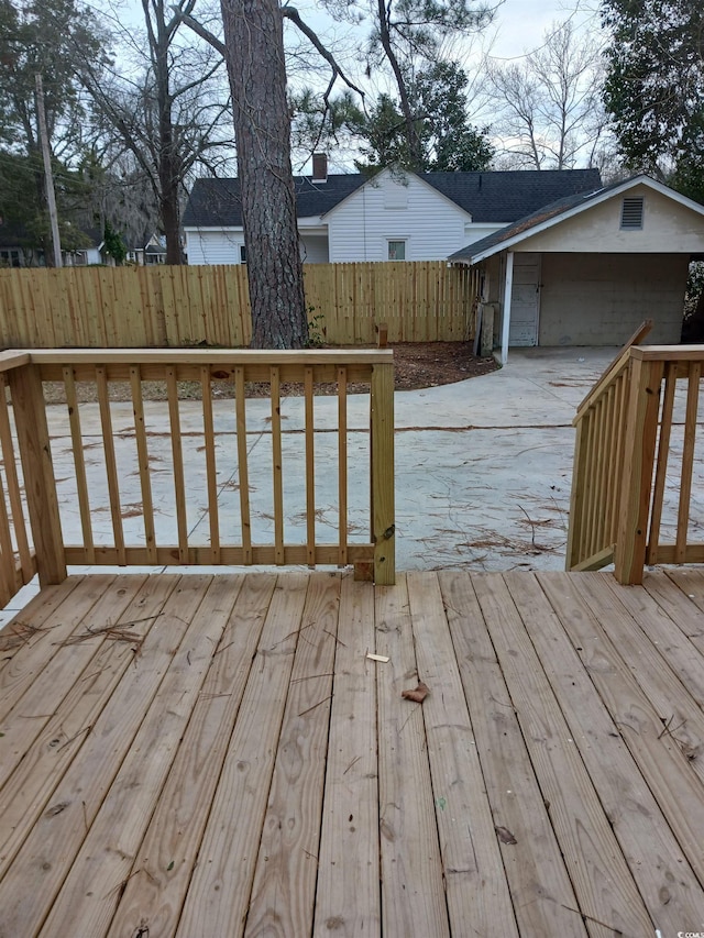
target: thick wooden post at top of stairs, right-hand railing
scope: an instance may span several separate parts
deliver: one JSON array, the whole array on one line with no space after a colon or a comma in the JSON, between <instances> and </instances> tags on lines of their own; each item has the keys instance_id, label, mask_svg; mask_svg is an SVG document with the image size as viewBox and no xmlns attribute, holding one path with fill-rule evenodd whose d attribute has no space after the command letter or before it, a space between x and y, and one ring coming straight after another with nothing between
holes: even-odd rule
<instances>
[{"instance_id":1,"label":"thick wooden post at top of stairs, right-hand railing","mask_svg":"<svg viewBox=\"0 0 704 938\"><path fill-rule=\"evenodd\" d=\"M614 556L614 574L623 584L642 583L662 374L662 362L632 357L626 413L626 459Z\"/></svg>"}]
</instances>

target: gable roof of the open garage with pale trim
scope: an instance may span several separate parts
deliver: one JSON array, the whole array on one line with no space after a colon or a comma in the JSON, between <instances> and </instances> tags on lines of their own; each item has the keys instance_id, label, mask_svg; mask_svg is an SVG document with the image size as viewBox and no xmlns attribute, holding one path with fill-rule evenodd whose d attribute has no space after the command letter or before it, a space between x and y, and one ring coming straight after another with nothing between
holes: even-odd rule
<instances>
[{"instance_id":1,"label":"gable roof of the open garage with pale trim","mask_svg":"<svg viewBox=\"0 0 704 938\"><path fill-rule=\"evenodd\" d=\"M550 205L546 205L537 211L518 219L518 221L488 234L486 238L482 238L480 241L475 241L466 247L455 251L454 254L448 257L448 261L479 264L480 261L485 261L499 251L507 251L527 238L531 238L541 231L546 231L546 229L560 224L575 214L580 214L580 212L593 206L605 202L615 196L628 191L628 189L632 189L635 186L641 185L654 189L686 208L694 209L700 214L704 214L704 206L692 199L688 199L686 196L682 196L669 186L658 183L657 179L641 174L631 176L629 179L622 179L618 183L612 183L610 186L600 186L591 192L581 192L563 199L557 199Z\"/></svg>"}]
</instances>

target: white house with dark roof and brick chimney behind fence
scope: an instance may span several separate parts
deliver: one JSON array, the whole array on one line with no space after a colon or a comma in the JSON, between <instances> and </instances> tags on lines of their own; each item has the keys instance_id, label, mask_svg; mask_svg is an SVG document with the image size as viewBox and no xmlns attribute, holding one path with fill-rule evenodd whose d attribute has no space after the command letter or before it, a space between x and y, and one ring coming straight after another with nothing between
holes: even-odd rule
<instances>
[{"instance_id":1,"label":"white house with dark roof and brick chimney behind fence","mask_svg":"<svg viewBox=\"0 0 704 938\"><path fill-rule=\"evenodd\" d=\"M295 178L302 260L444 260L554 199L601 185L596 169L328 175ZM184 213L189 264L246 263L239 179L197 179Z\"/></svg>"}]
</instances>

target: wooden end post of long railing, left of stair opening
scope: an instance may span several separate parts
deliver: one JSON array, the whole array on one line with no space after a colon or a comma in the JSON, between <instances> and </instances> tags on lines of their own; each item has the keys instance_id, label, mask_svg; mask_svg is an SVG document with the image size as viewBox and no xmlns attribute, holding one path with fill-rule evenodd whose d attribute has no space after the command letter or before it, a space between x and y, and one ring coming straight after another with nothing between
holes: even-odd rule
<instances>
[{"instance_id":1,"label":"wooden end post of long railing, left of stair opening","mask_svg":"<svg viewBox=\"0 0 704 938\"><path fill-rule=\"evenodd\" d=\"M371 456L374 582L392 586L396 581L393 364L372 369Z\"/></svg>"}]
</instances>

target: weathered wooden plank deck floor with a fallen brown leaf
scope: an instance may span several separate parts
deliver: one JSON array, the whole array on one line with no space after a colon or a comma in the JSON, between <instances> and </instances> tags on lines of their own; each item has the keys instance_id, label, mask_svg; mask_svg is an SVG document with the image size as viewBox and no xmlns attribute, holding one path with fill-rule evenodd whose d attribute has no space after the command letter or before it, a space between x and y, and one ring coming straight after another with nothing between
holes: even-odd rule
<instances>
[{"instance_id":1,"label":"weathered wooden plank deck floor with a fallen brown leaf","mask_svg":"<svg viewBox=\"0 0 704 938\"><path fill-rule=\"evenodd\" d=\"M91 575L0 647L2 938L704 930L701 570Z\"/></svg>"}]
</instances>

